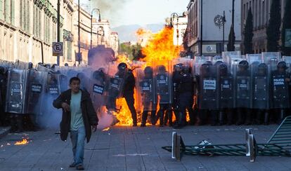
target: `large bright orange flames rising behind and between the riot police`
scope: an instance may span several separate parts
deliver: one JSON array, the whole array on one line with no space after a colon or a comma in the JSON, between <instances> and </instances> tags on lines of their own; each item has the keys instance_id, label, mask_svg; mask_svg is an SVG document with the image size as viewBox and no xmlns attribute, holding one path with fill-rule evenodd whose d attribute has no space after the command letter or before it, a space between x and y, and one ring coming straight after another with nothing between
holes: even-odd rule
<instances>
[{"instance_id":1,"label":"large bright orange flames rising behind and between the riot police","mask_svg":"<svg viewBox=\"0 0 291 171\"><path fill-rule=\"evenodd\" d=\"M143 64L139 66L141 68L147 66L157 67L160 64L163 64L165 67L172 67L170 66L170 63L167 63L167 61L172 61L178 58L179 53L183 50L182 46L174 46L174 29L171 27L164 27L157 34L153 34L144 29L138 29L136 35L138 36L138 39L143 39L143 36L147 38L145 46L142 48L142 53L145 57L141 60L143 62ZM129 64L129 59L122 55L117 57L117 62L125 62ZM132 67L132 62L129 66ZM134 93L134 96L136 100L136 93ZM137 102L135 102L135 105L136 104ZM129 111L127 102L124 98L117 99L117 107L120 107L120 110L114 114L119 121L116 125L132 125L131 112ZM141 123L141 121L138 121L138 123Z\"/></svg>"}]
</instances>

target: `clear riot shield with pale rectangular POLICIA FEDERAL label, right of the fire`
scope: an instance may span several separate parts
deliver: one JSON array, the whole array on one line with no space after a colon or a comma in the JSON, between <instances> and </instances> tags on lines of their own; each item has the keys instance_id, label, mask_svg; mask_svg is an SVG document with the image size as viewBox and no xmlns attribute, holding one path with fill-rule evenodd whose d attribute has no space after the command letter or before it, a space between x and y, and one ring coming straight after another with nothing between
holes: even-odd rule
<instances>
[{"instance_id":1,"label":"clear riot shield with pale rectangular POLICIA FEDERAL label, right of the fire","mask_svg":"<svg viewBox=\"0 0 291 171\"><path fill-rule=\"evenodd\" d=\"M218 109L217 65L202 64L199 74L198 107L199 109Z\"/></svg>"}]
</instances>

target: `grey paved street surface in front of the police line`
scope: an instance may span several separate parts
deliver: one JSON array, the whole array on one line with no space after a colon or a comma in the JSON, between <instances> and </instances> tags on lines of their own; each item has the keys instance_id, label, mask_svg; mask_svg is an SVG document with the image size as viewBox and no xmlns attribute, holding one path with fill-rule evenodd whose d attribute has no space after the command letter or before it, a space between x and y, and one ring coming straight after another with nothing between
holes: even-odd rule
<instances>
[{"instance_id":1,"label":"grey paved street surface in front of the police line","mask_svg":"<svg viewBox=\"0 0 291 171\"><path fill-rule=\"evenodd\" d=\"M277 125L188 126L176 130L186 145L206 139L213 144L245 143L245 128L252 128L257 142L266 142ZM62 142L58 130L8 134L0 139L0 170L75 170L70 138ZM171 146L172 128L112 127L97 130L85 146L86 170L291 170L291 158L258 156L250 163L247 156L183 156L181 162L161 149ZM14 143L28 138L28 144Z\"/></svg>"}]
</instances>

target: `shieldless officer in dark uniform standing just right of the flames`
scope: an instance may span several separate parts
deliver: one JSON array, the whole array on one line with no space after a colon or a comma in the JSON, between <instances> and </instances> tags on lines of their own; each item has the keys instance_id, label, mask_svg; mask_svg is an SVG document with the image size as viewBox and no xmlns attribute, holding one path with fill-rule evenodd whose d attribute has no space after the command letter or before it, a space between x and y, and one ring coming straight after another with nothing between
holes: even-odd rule
<instances>
[{"instance_id":1,"label":"shieldless officer in dark uniform standing just right of the flames","mask_svg":"<svg viewBox=\"0 0 291 171\"><path fill-rule=\"evenodd\" d=\"M183 64L177 64L176 71L179 74L173 76L173 82L177 83L178 115L174 128L182 128L186 125L186 110L188 111L191 125L195 123L193 111L193 76L186 71Z\"/></svg>"}]
</instances>

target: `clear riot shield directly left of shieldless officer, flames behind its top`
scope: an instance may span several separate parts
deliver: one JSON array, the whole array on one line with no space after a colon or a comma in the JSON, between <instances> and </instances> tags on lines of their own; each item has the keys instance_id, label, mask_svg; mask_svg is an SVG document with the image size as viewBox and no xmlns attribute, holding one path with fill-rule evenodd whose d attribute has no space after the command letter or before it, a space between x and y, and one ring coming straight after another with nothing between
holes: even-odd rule
<instances>
[{"instance_id":1,"label":"clear riot shield directly left of shieldless officer, flames behind its top","mask_svg":"<svg viewBox=\"0 0 291 171\"><path fill-rule=\"evenodd\" d=\"M160 61L153 66L157 100L159 104L172 104L172 62Z\"/></svg>"}]
</instances>

